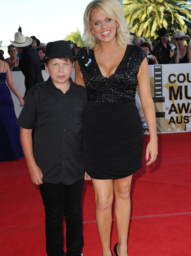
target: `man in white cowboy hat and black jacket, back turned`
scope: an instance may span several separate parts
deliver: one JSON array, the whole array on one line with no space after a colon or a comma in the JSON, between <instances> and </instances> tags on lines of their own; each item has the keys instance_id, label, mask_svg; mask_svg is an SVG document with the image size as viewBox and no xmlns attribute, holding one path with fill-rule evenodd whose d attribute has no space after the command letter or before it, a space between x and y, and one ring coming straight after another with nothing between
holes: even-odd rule
<instances>
[{"instance_id":1,"label":"man in white cowboy hat and black jacket, back turned","mask_svg":"<svg viewBox=\"0 0 191 256\"><path fill-rule=\"evenodd\" d=\"M15 33L15 40L11 41L11 44L16 46L21 53L19 59L19 68L25 77L25 96L23 99L26 99L27 91L35 84L41 83L44 81L41 71L40 56L36 49L30 48L32 43L31 37L25 37L21 32Z\"/></svg>"}]
</instances>

